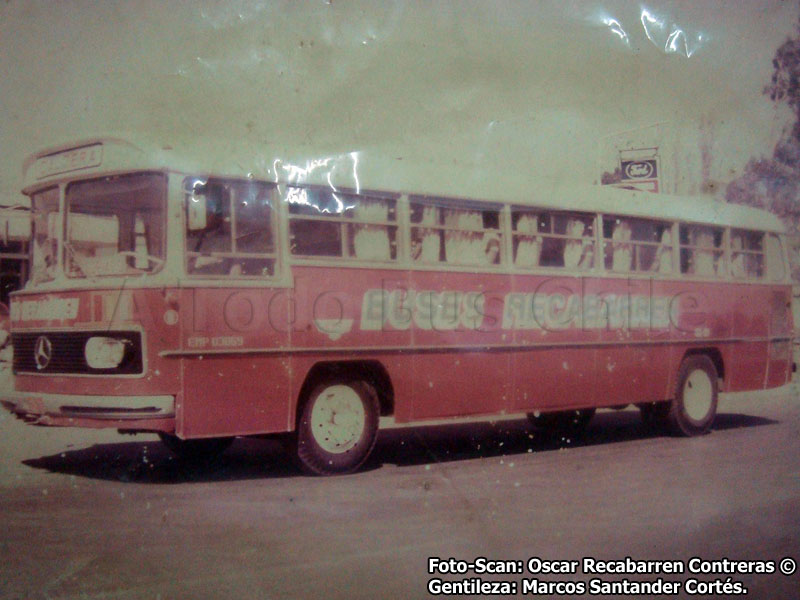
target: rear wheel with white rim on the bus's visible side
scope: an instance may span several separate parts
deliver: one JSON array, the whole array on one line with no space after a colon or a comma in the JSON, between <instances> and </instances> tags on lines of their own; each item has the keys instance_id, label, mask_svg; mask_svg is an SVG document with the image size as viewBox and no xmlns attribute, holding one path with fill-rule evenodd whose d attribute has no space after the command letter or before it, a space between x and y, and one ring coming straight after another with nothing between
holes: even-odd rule
<instances>
[{"instance_id":1,"label":"rear wheel with white rim on the bus's visible side","mask_svg":"<svg viewBox=\"0 0 800 600\"><path fill-rule=\"evenodd\" d=\"M704 354L687 356L678 369L666 422L675 435L707 433L717 414L717 369Z\"/></svg>"}]
</instances>

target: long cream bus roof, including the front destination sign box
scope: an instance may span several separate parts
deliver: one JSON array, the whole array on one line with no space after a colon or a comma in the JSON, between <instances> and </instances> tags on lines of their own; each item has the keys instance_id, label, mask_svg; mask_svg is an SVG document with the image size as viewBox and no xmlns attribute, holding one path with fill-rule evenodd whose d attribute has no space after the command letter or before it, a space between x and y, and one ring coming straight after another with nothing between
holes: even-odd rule
<instances>
[{"instance_id":1,"label":"long cream bus roof, including the front destination sign box","mask_svg":"<svg viewBox=\"0 0 800 600\"><path fill-rule=\"evenodd\" d=\"M672 196L614 186L576 185L528 172L489 174L485 170L415 163L377 153L349 152L323 158L291 159L267 148L193 141L158 146L98 137L48 148L24 163L26 193L54 181L105 173L158 169L187 175L252 178L273 183L318 185L339 191L411 194L511 203L542 209L601 212L710 225L783 232L780 219L749 206L702 196Z\"/></svg>"}]
</instances>

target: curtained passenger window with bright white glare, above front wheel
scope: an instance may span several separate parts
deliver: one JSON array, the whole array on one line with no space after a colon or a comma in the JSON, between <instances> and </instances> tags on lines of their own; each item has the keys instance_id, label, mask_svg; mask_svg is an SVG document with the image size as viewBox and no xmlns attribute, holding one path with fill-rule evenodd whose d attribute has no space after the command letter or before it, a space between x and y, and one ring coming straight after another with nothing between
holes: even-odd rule
<instances>
[{"instance_id":1,"label":"curtained passenger window with bright white glare, above front wheel","mask_svg":"<svg viewBox=\"0 0 800 600\"><path fill-rule=\"evenodd\" d=\"M285 200L292 255L397 260L395 199L288 187Z\"/></svg>"}]
</instances>

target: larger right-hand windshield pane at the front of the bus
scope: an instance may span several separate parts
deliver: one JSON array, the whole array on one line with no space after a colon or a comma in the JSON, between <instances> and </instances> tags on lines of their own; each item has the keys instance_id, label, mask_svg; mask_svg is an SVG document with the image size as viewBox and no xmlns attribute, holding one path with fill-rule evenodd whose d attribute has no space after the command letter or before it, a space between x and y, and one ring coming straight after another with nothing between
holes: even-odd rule
<instances>
[{"instance_id":1,"label":"larger right-hand windshield pane at the front of the bus","mask_svg":"<svg viewBox=\"0 0 800 600\"><path fill-rule=\"evenodd\" d=\"M70 184L68 277L135 275L164 264L166 177L137 173Z\"/></svg>"}]
</instances>

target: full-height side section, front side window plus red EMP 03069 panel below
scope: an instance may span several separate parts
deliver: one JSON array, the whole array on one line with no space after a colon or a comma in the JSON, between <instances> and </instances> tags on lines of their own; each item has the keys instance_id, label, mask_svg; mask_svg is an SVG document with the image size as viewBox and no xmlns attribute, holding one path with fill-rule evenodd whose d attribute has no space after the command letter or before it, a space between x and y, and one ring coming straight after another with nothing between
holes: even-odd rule
<instances>
[{"instance_id":1,"label":"full-height side section, front side window plus red EMP 03069 panel below","mask_svg":"<svg viewBox=\"0 0 800 600\"><path fill-rule=\"evenodd\" d=\"M183 193L192 284L180 298L184 384L177 433L286 431L292 303L278 263L275 189L210 178L188 179Z\"/></svg>"}]
</instances>

